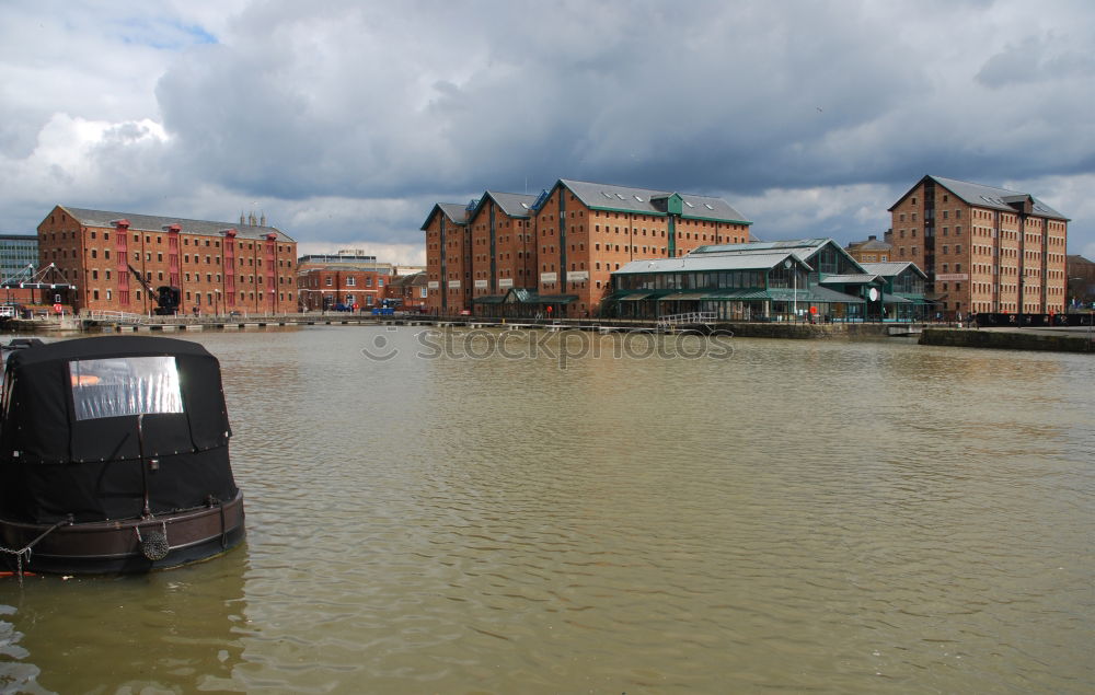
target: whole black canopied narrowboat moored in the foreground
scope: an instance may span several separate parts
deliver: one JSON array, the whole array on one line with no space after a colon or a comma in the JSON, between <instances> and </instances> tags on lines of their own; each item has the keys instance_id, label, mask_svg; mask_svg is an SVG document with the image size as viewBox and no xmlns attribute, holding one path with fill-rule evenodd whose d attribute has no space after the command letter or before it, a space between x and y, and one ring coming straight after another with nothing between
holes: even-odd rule
<instances>
[{"instance_id":1,"label":"whole black canopied narrowboat moored in the foreground","mask_svg":"<svg viewBox=\"0 0 1095 695\"><path fill-rule=\"evenodd\" d=\"M0 567L143 572L243 541L216 357L145 336L11 347L0 398Z\"/></svg>"}]
</instances>

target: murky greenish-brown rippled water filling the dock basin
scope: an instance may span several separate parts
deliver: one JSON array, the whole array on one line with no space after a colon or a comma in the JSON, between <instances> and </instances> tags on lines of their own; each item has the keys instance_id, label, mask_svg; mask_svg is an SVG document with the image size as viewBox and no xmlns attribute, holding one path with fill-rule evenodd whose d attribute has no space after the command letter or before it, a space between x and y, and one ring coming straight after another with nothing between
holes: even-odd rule
<instances>
[{"instance_id":1,"label":"murky greenish-brown rippled water filling the dock basin","mask_svg":"<svg viewBox=\"0 0 1095 695\"><path fill-rule=\"evenodd\" d=\"M246 545L0 579L0 692L1095 688L1091 356L424 331L185 334Z\"/></svg>"}]
</instances>

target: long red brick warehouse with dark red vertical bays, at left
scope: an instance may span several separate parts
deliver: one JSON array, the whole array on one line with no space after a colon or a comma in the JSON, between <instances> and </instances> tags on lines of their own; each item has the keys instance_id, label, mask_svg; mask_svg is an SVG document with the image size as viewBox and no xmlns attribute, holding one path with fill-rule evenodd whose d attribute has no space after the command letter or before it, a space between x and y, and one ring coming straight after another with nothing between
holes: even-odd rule
<instances>
[{"instance_id":1,"label":"long red brick warehouse with dark red vertical bays, at left","mask_svg":"<svg viewBox=\"0 0 1095 695\"><path fill-rule=\"evenodd\" d=\"M64 302L78 312L148 313L146 283L177 288L184 313L296 311L297 242L247 222L57 206L38 224L39 260L56 264L71 287Z\"/></svg>"}]
</instances>

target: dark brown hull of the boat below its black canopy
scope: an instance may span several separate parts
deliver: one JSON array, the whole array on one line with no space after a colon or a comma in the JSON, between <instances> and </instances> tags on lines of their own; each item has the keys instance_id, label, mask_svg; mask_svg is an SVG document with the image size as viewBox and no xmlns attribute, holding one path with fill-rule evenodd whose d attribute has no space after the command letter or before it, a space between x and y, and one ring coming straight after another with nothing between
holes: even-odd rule
<instances>
[{"instance_id":1,"label":"dark brown hull of the boat below its black canopy","mask_svg":"<svg viewBox=\"0 0 1095 695\"><path fill-rule=\"evenodd\" d=\"M43 533L23 558L23 571L60 575L147 572L200 561L239 545L244 525L243 493L223 505L201 507L150 519L93 523L28 524L0 519L0 546L26 547ZM149 540L166 532L166 554L149 551ZM142 541L145 545L142 546ZM155 559L150 559L149 555ZM0 553L7 569L18 569L18 558Z\"/></svg>"}]
</instances>

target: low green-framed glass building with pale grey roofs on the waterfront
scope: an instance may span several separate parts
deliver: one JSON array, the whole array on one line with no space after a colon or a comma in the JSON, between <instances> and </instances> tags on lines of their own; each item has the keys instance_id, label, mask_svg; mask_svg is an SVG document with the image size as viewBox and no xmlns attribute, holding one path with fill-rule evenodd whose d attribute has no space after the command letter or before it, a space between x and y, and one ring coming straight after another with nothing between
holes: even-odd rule
<instances>
[{"instance_id":1,"label":"low green-framed glass building with pale grey roofs on the waterfront","mask_svg":"<svg viewBox=\"0 0 1095 695\"><path fill-rule=\"evenodd\" d=\"M723 321L881 321L897 317L887 303L913 303L887 290L888 285L832 239L719 244L680 258L629 263L612 274L613 291L601 313L633 318L707 312ZM902 314L913 315L911 309Z\"/></svg>"}]
</instances>

